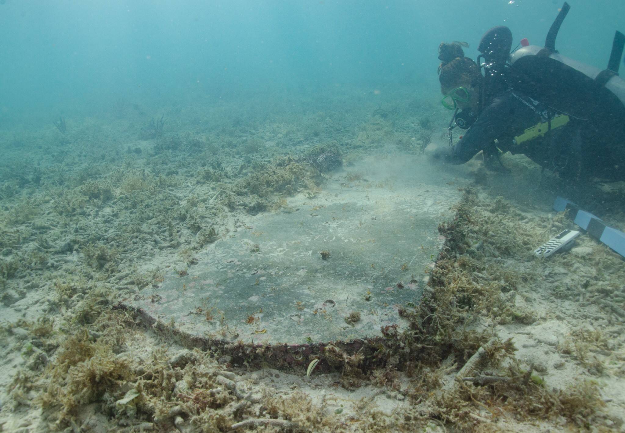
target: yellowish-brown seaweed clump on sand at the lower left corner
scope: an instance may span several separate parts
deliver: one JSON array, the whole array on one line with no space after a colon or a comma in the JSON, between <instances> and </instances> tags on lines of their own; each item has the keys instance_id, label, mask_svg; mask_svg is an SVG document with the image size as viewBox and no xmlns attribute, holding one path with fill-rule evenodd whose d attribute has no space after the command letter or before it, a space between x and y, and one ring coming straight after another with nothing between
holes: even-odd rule
<instances>
[{"instance_id":1,"label":"yellowish-brown seaweed clump on sand at the lower left corner","mask_svg":"<svg viewBox=\"0 0 625 433\"><path fill-rule=\"evenodd\" d=\"M94 410L120 428L168 429L184 423L197 431L229 431L241 420L249 396L237 391L234 374L219 372L200 351L171 356L161 348L145 360L129 356L124 352L132 324L121 310L100 309L94 323L51 349L51 362L38 380L14 379L14 402L26 404L24 396L39 391L33 402L56 429L89 422L82 409L95 402ZM33 329L40 325L48 324ZM241 404L224 410L232 402Z\"/></svg>"}]
</instances>

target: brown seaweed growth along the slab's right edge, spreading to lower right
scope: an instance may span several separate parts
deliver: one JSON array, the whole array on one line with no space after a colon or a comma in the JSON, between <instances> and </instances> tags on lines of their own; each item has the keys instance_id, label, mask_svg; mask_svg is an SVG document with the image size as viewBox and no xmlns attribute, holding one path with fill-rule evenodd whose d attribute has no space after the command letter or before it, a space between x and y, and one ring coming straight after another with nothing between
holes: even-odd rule
<instances>
[{"instance_id":1,"label":"brown seaweed growth along the slab's right edge, spreading to lower right","mask_svg":"<svg viewBox=\"0 0 625 433\"><path fill-rule=\"evenodd\" d=\"M501 202L495 206L507 208ZM421 303L400 310L411 329L401 334L388 329L386 335L407 348L407 372L414 377L410 396L416 402L432 396L425 406L435 419L474 431L503 411L519 421L565 416L586 428L604 406L596 384L548 389L534 374L534 365L522 366L514 358L511 339L501 341L492 328L470 326L480 316L495 323L525 323L531 316L506 295L514 278L499 266L487 265L489 257L518 260L529 254L525 244L535 235L529 228L526 236L516 239L492 233L504 233L519 223L509 218L511 213L507 209L504 215L493 215L473 190L465 190L456 218L439 226L446 243ZM445 367L450 354L463 367L441 387L441 377L456 369L457 364Z\"/></svg>"}]
</instances>

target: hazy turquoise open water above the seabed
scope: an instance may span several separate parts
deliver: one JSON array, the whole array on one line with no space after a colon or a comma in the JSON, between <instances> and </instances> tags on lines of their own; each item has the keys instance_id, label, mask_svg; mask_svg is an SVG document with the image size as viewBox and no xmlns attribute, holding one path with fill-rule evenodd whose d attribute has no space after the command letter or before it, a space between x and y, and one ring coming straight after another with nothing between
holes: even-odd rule
<instances>
[{"instance_id":1,"label":"hazy turquoise open water above the seabed","mask_svg":"<svg viewBox=\"0 0 625 433\"><path fill-rule=\"evenodd\" d=\"M314 92L337 84L437 95L437 46L492 26L542 45L556 0L17 1L0 4L0 128L119 98ZM620 1L572 1L557 39L603 69Z\"/></svg>"}]
</instances>

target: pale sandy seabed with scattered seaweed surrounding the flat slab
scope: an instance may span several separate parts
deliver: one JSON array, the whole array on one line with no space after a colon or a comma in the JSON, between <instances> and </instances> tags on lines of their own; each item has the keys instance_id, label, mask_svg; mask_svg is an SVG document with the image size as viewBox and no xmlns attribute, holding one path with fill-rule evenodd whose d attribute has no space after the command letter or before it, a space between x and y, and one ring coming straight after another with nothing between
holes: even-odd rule
<instances>
[{"instance_id":1,"label":"pale sandy seabed with scattered seaweed surrounding the flat slab","mask_svg":"<svg viewBox=\"0 0 625 433\"><path fill-rule=\"evenodd\" d=\"M5 121L2 431L621 431L622 258L587 235L548 260L532 250L575 228L552 211L557 194L623 230L622 185L539 183L510 155L507 174L479 158L432 164L448 113L379 93L119 100L68 115L64 132ZM117 308L254 218L314 212L329 180L380 193L417 167L459 170L449 188L462 198L441 216L433 267L402 268L406 281L429 276L401 310L409 328L385 329L375 350L329 344L306 377L231 329L227 350L199 351L168 333L175 323Z\"/></svg>"}]
</instances>

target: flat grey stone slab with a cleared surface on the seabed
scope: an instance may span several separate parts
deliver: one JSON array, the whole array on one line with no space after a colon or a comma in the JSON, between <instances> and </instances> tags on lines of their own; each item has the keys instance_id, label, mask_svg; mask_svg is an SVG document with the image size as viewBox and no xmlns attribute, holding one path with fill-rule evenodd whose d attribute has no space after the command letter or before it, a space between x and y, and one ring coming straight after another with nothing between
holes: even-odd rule
<instances>
[{"instance_id":1,"label":"flat grey stone slab with a cleared surface on the seabed","mask_svg":"<svg viewBox=\"0 0 625 433\"><path fill-rule=\"evenodd\" d=\"M199 263L169 268L159 288L126 304L206 339L297 345L379 337L383 326L404 326L398 308L421 298L442 246L437 226L459 197L446 180L330 182L319 198L292 198L287 212L250 217L248 228L197 255ZM346 321L351 313L359 318Z\"/></svg>"}]
</instances>

